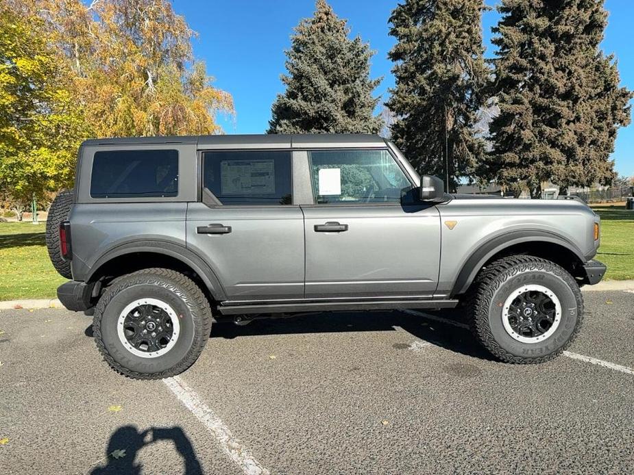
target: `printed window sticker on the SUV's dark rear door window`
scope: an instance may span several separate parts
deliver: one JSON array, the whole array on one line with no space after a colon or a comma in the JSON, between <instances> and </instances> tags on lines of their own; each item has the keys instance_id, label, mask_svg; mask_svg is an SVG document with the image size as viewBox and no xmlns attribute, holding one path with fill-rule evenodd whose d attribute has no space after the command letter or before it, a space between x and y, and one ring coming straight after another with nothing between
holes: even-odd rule
<instances>
[{"instance_id":1,"label":"printed window sticker on the SUV's dark rear door window","mask_svg":"<svg viewBox=\"0 0 634 475\"><path fill-rule=\"evenodd\" d=\"M274 160L220 162L222 194L275 193Z\"/></svg>"}]
</instances>

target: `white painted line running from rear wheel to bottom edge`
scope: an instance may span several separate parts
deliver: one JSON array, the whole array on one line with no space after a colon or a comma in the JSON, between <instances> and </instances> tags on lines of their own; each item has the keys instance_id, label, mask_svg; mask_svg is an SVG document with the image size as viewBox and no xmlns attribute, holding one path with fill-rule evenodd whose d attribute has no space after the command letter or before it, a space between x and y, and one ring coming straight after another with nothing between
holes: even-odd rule
<instances>
[{"instance_id":1,"label":"white painted line running from rear wheel to bottom edge","mask_svg":"<svg viewBox=\"0 0 634 475\"><path fill-rule=\"evenodd\" d=\"M189 387L179 376L165 378L163 383L169 387L173 394L183 403L183 405L195 415L197 420L212 433L226 454L240 466L247 475L269 475L269 470L265 469L251 452L234 437L229 428L220 418L202 402L196 391Z\"/></svg>"}]
</instances>

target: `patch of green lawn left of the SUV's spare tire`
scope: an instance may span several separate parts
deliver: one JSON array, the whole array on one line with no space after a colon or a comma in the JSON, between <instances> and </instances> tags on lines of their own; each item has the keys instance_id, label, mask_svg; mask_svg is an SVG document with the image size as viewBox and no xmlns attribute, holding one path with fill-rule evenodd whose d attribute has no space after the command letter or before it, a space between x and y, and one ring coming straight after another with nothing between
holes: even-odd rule
<instances>
[{"instance_id":1,"label":"patch of green lawn left of the SUV's spare tire","mask_svg":"<svg viewBox=\"0 0 634 475\"><path fill-rule=\"evenodd\" d=\"M45 224L0 222L0 300L54 298L66 279L49 260Z\"/></svg>"}]
</instances>

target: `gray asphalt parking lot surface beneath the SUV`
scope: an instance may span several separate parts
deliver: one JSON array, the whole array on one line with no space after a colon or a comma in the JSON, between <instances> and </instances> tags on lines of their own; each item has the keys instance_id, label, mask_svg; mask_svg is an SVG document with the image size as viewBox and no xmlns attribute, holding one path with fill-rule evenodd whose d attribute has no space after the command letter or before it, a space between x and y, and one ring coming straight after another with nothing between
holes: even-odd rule
<instances>
[{"instance_id":1,"label":"gray asphalt parking lot surface beneath the SUV","mask_svg":"<svg viewBox=\"0 0 634 475\"><path fill-rule=\"evenodd\" d=\"M0 311L1 471L631 473L634 294L584 296L544 365L491 361L456 312L331 313L217 324L149 382L101 361L81 313Z\"/></svg>"}]
</instances>

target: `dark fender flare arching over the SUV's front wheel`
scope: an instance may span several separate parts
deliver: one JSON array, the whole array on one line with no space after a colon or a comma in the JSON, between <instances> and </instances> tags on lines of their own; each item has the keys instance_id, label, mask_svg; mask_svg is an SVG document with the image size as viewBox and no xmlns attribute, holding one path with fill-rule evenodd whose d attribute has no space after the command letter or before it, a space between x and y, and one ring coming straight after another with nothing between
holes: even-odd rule
<instances>
[{"instance_id":1,"label":"dark fender flare arching over the SUV's front wheel","mask_svg":"<svg viewBox=\"0 0 634 475\"><path fill-rule=\"evenodd\" d=\"M465 264L463 264L452 288L451 295L455 296L467 292L467 289L476 278L480 269L483 268L491 257L500 253L500 251L504 251L505 248L515 246L516 244L522 244L523 242L548 242L552 244L559 244L559 246L563 246L570 252L574 253L574 255L576 255L582 263L585 263L588 260L587 256L581 252L581 249L579 249L576 244L556 233L550 233L548 231L541 231L538 229L511 231L487 240L487 242L476 248L472 255L470 255L470 257L465 261Z\"/></svg>"}]
</instances>

